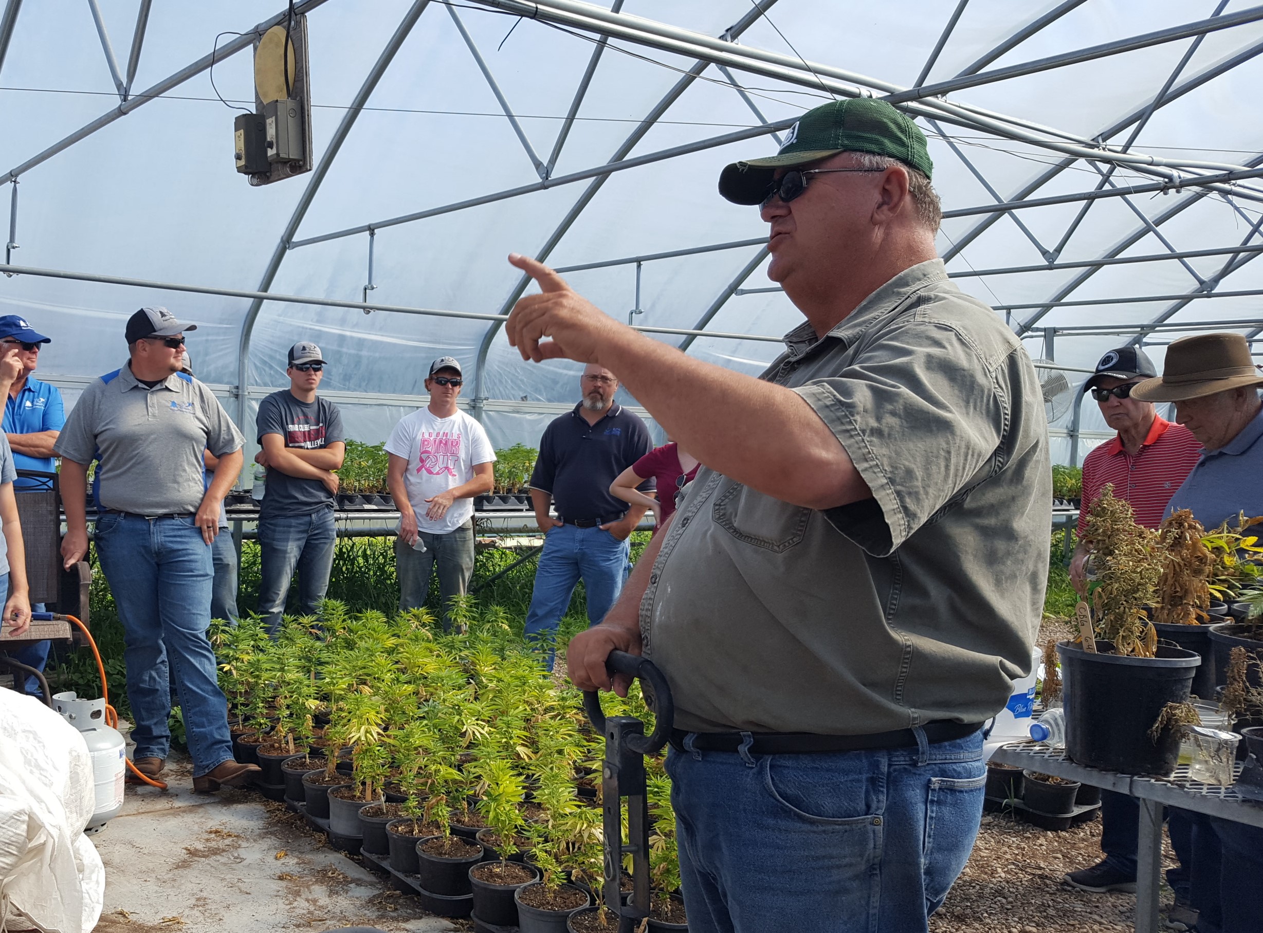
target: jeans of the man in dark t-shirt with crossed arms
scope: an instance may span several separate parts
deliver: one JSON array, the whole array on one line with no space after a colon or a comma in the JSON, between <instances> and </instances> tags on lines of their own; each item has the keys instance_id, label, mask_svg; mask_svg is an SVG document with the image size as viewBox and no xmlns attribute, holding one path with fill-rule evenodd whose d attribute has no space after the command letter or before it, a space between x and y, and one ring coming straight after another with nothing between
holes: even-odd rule
<instances>
[{"instance_id":1,"label":"jeans of the man in dark t-shirt with crossed arms","mask_svg":"<svg viewBox=\"0 0 1263 933\"><path fill-rule=\"evenodd\" d=\"M259 615L273 635L280 627L289 595L289 581L298 571L298 605L302 615L313 616L328 590L333 569L337 532L333 510L321 509L309 515L277 515L259 520Z\"/></svg>"}]
</instances>

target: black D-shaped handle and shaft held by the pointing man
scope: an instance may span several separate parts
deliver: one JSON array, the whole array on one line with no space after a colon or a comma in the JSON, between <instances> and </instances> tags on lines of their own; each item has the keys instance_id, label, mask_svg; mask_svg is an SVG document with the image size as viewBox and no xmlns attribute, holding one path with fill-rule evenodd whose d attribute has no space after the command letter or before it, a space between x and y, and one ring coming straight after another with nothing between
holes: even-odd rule
<instances>
[{"instance_id":1,"label":"black D-shaped handle and shaft held by the pointing man","mask_svg":"<svg viewBox=\"0 0 1263 933\"><path fill-rule=\"evenodd\" d=\"M605 905L619 918L619 933L634 933L649 917L649 800L645 797L644 755L667 744L676 707L667 678L645 658L610 651L605 659L610 674L639 678L645 702L657 722L645 737L644 722L634 716L605 717L596 691L584 691L584 710L592 726L605 736L601 763L601 798L605 845ZM628 845L623 845L623 798L628 802ZM623 856L632 856L632 900L623 904L620 893Z\"/></svg>"}]
</instances>

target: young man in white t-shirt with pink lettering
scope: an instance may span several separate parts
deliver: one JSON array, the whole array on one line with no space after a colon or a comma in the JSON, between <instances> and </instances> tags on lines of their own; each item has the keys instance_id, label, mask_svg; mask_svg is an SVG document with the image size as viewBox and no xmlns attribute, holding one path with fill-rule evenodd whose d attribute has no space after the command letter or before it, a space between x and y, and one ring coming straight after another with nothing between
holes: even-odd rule
<instances>
[{"instance_id":1,"label":"young man in white t-shirt with pink lettering","mask_svg":"<svg viewBox=\"0 0 1263 933\"><path fill-rule=\"evenodd\" d=\"M494 485L491 442L456 408L461 381L456 360L434 360L426 380L429 405L403 418L386 441L386 484L400 514L399 611L426 605L437 564L445 630L451 598L464 596L474 576L474 496Z\"/></svg>"}]
</instances>

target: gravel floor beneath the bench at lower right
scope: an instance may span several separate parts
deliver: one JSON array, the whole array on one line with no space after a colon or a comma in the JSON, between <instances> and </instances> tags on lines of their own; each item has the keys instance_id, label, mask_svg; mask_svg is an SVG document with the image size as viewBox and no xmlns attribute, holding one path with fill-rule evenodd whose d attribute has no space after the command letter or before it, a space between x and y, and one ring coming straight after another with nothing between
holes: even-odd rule
<instances>
[{"instance_id":1,"label":"gravel floor beneath the bench at lower right","mask_svg":"<svg viewBox=\"0 0 1263 933\"><path fill-rule=\"evenodd\" d=\"M1134 929L1135 895L1086 894L1062 882L1067 871L1100 860L1100 821L1046 832L985 814L974 852L947 901L931 918L933 933L1123 933ZM1163 856L1173 865L1170 842ZM1163 889L1163 904L1171 891Z\"/></svg>"}]
</instances>

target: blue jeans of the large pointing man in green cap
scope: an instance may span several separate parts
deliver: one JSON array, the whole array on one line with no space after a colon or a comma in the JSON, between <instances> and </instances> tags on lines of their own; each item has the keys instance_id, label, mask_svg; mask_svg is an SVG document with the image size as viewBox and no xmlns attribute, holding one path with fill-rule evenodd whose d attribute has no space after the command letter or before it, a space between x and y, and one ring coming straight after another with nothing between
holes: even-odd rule
<instances>
[{"instance_id":1,"label":"blue jeans of the large pointing man in green cap","mask_svg":"<svg viewBox=\"0 0 1263 933\"><path fill-rule=\"evenodd\" d=\"M981 732L820 755L672 749L667 773L692 933L926 930L986 783Z\"/></svg>"}]
</instances>

